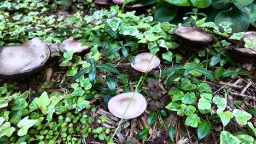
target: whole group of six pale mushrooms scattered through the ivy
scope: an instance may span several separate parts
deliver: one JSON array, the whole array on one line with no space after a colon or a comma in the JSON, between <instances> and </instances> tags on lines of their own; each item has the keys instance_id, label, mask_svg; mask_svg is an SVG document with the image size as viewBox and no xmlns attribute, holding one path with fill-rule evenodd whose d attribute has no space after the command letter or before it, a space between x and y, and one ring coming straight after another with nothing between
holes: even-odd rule
<instances>
[{"instance_id":1,"label":"whole group of six pale mushrooms scattered through the ivy","mask_svg":"<svg viewBox=\"0 0 256 144\"><path fill-rule=\"evenodd\" d=\"M174 35L184 41L190 43L208 45L214 40L211 34L207 34L200 28L182 26L176 29ZM246 32L243 38L255 38L256 32ZM253 41L256 43L256 39ZM0 79L17 79L20 76L27 76L36 73L44 67L51 57L51 53L57 51L70 51L74 53L82 53L89 50L90 47L82 46L77 39L66 39L60 46L55 44L45 43L35 37L24 44L17 46L2 46L0 47ZM234 52L240 55L256 57L256 47L248 49L245 47L235 48ZM152 53L144 52L135 56L135 64L131 63L131 67L142 73L157 68L160 64L160 59ZM126 107L125 119L135 118L141 115L147 107L147 101L140 93L133 92L121 93L111 98L108 103L108 109L114 116L122 118ZM131 99L132 98L132 99ZM118 107L118 108L117 108Z\"/></svg>"}]
</instances>

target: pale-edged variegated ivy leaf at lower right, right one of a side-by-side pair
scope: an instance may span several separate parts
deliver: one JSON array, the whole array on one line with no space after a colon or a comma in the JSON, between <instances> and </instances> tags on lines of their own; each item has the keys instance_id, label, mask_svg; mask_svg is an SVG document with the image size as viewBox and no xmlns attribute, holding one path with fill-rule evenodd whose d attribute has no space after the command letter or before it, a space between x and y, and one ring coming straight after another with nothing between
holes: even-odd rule
<instances>
[{"instance_id":1,"label":"pale-edged variegated ivy leaf at lower right, right one of a side-by-side pair","mask_svg":"<svg viewBox=\"0 0 256 144\"><path fill-rule=\"evenodd\" d=\"M252 118L251 114L238 109L233 111L233 115L236 117L236 121L242 125L246 125L247 121Z\"/></svg>"}]
</instances>

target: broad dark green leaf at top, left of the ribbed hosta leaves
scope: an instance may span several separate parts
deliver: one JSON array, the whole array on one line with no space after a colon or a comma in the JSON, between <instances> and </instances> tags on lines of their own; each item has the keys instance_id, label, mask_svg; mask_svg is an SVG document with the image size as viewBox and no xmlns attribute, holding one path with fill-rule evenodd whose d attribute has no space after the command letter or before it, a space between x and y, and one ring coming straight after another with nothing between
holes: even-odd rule
<instances>
[{"instance_id":1,"label":"broad dark green leaf at top, left of the ribbed hosta leaves","mask_svg":"<svg viewBox=\"0 0 256 144\"><path fill-rule=\"evenodd\" d=\"M169 22L178 14L178 7L165 1L159 1L156 5L154 19L160 22Z\"/></svg>"}]
</instances>

